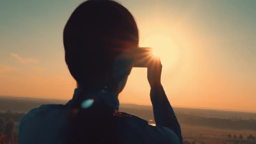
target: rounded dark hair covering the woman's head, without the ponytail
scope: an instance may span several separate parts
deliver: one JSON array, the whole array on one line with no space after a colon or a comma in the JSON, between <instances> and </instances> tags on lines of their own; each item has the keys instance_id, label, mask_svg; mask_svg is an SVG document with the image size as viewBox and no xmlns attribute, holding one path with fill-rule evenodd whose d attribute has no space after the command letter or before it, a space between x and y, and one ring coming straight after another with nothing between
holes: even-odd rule
<instances>
[{"instance_id":1,"label":"rounded dark hair covering the woman's head, without the ponytail","mask_svg":"<svg viewBox=\"0 0 256 144\"><path fill-rule=\"evenodd\" d=\"M113 82L115 57L139 43L133 16L112 0L88 0L80 4L67 21L63 37L69 71L87 91L109 86L108 82ZM117 83L111 87L117 87Z\"/></svg>"}]
</instances>

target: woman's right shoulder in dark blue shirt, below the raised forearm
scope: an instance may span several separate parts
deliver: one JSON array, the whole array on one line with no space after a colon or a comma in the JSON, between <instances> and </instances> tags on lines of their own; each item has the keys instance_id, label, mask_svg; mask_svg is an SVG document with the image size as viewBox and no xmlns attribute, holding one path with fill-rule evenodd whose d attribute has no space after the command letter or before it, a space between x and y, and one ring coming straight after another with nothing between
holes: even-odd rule
<instances>
[{"instance_id":1,"label":"woman's right shoulder in dark blue shirt, below the raised forearm","mask_svg":"<svg viewBox=\"0 0 256 144\"><path fill-rule=\"evenodd\" d=\"M123 143L141 144L179 144L176 134L169 128L162 125L149 125L147 120L125 112L119 112L118 117L122 118L123 125L120 127ZM123 127L125 126L125 127ZM123 131L125 130L125 131Z\"/></svg>"}]
</instances>

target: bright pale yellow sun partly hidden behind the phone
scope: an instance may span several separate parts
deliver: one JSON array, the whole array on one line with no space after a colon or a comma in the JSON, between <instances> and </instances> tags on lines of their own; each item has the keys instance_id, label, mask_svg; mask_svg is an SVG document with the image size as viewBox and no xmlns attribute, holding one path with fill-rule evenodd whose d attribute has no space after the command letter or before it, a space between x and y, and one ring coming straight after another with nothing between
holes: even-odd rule
<instances>
[{"instance_id":1,"label":"bright pale yellow sun partly hidden behind the phone","mask_svg":"<svg viewBox=\"0 0 256 144\"><path fill-rule=\"evenodd\" d=\"M179 60L179 46L171 36L155 34L144 37L140 47L152 48L153 55L160 57L163 69L173 67Z\"/></svg>"}]
</instances>

